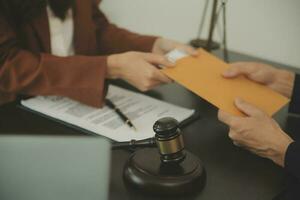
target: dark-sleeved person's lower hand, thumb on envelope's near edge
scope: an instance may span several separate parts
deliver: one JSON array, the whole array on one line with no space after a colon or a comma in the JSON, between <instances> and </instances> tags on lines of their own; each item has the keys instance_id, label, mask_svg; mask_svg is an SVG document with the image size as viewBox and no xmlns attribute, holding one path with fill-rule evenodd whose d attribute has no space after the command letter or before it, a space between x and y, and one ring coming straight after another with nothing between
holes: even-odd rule
<instances>
[{"instance_id":1,"label":"dark-sleeved person's lower hand, thumb on envelope's near edge","mask_svg":"<svg viewBox=\"0 0 300 200\"><path fill-rule=\"evenodd\" d=\"M235 105L247 117L236 117L224 111L218 114L219 120L229 126L233 143L283 167L287 148L293 142L290 136L255 106L241 99L237 99Z\"/></svg>"}]
</instances>

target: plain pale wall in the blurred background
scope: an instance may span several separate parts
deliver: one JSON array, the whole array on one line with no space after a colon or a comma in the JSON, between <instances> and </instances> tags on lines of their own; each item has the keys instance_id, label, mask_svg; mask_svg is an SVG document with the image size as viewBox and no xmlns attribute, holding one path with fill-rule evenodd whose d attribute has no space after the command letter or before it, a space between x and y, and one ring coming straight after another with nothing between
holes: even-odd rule
<instances>
[{"instance_id":1,"label":"plain pale wall in the blurred background","mask_svg":"<svg viewBox=\"0 0 300 200\"><path fill-rule=\"evenodd\" d=\"M101 9L120 27L189 42L197 36L204 6L205 0L103 0ZM216 41L222 38L221 22ZM227 40L231 51L300 68L300 1L228 0Z\"/></svg>"}]
</instances>

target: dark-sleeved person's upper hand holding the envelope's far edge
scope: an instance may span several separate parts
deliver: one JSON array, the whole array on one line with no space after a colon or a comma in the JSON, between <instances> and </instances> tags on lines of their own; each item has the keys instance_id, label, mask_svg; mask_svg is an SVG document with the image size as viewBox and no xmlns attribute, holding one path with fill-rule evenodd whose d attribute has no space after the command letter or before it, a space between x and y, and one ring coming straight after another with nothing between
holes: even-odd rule
<instances>
[{"instance_id":1,"label":"dark-sleeved person's upper hand holding the envelope's far edge","mask_svg":"<svg viewBox=\"0 0 300 200\"><path fill-rule=\"evenodd\" d=\"M239 75L266 85L288 98L292 95L295 79L295 74L292 72L262 63L238 62L231 64L231 67L223 74L225 78L235 78Z\"/></svg>"}]
</instances>

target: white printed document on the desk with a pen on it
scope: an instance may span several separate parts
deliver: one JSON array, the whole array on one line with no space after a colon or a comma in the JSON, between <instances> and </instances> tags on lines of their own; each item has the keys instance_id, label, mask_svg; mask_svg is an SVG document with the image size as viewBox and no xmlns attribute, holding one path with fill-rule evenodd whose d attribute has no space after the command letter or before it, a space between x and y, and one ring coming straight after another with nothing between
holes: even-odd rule
<instances>
[{"instance_id":1,"label":"white printed document on the desk with a pen on it","mask_svg":"<svg viewBox=\"0 0 300 200\"><path fill-rule=\"evenodd\" d=\"M65 97L38 96L21 104L31 110L78 126L115 141L141 140L154 136L153 124L162 117L179 122L194 114L194 110L175 106L117 86L109 86L107 98L132 121L137 131L126 125L107 106L101 109L83 105Z\"/></svg>"}]
</instances>

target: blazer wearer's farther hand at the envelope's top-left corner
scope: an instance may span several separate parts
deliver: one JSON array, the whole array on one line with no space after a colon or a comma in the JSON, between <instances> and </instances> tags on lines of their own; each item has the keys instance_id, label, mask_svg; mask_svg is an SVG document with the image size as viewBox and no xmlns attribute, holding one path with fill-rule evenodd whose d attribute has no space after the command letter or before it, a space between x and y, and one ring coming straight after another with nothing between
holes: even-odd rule
<instances>
[{"instance_id":1,"label":"blazer wearer's farther hand at the envelope's top-left corner","mask_svg":"<svg viewBox=\"0 0 300 200\"><path fill-rule=\"evenodd\" d=\"M159 55L165 55L174 49L184 50L192 56L197 55L197 51L193 47L165 38L158 38L155 41L152 52Z\"/></svg>"}]
</instances>

